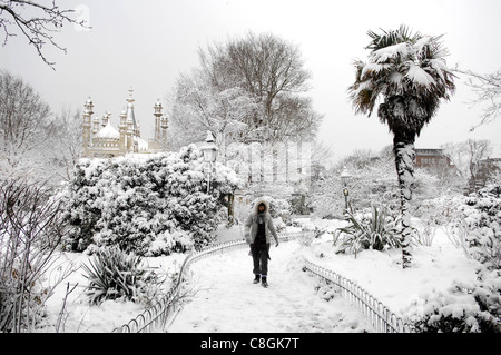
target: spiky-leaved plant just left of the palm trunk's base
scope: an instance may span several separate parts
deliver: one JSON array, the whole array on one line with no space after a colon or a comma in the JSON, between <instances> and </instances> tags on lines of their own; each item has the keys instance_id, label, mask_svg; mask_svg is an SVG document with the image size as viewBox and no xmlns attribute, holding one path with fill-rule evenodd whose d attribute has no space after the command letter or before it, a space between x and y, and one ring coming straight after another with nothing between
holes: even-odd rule
<instances>
[{"instance_id":1,"label":"spiky-leaved plant just left of the palm trunk's base","mask_svg":"<svg viewBox=\"0 0 501 355\"><path fill-rule=\"evenodd\" d=\"M370 214L347 213L347 226L337 228L336 253L357 254L364 249L383 250L400 247L399 219L385 206L372 206Z\"/></svg>"}]
</instances>

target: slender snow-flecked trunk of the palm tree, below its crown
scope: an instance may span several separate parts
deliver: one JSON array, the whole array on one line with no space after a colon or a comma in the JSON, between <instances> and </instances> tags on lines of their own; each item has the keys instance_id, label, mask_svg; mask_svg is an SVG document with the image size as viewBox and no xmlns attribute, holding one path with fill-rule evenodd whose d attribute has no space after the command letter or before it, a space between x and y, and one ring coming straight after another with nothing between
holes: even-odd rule
<instances>
[{"instance_id":1,"label":"slender snow-flecked trunk of the palm tree, below its crown","mask_svg":"<svg viewBox=\"0 0 501 355\"><path fill-rule=\"evenodd\" d=\"M406 141L405 141L406 140ZM402 267L411 266L412 252L412 227L411 227L411 199L414 188L414 139L397 139L393 141L393 152L395 155L396 174L399 175L400 201L401 201L401 244L402 244Z\"/></svg>"}]
</instances>

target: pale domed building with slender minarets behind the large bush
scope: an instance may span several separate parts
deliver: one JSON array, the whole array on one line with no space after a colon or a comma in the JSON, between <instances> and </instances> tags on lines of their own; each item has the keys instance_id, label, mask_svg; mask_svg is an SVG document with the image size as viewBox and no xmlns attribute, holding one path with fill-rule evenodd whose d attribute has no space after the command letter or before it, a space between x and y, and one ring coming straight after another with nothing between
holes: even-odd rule
<instances>
[{"instance_id":1,"label":"pale domed building with slender minarets behind the large bush","mask_svg":"<svg viewBox=\"0 0 501 355\"><path fill-rule=\"evenodd\" d=\"M82 152L85 158L112 158L126 154L150 154L167 150L167 117L161 112L161 103L154 107L155 138L149 142L140 137L140 128L134 114L132 90L129 90L127 108L120 114L118 130L111 126L111 114L101 119L94 117L94 103L89 98L85 103L82 125Z\"/></svg>"}]
</instances>

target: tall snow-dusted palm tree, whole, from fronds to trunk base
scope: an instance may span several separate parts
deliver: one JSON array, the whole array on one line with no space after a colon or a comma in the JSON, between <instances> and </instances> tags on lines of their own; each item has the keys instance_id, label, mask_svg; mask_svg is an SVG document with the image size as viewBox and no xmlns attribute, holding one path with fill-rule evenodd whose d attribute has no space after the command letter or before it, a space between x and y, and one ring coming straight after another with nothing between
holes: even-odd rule
<instances>
[{"instance_id":1,"label":"tall snow-dusted palm tree, whole, from fronds to trunk base","mask_svg":"<svg viewBox=\"0 0 501 355\"><path fill-rule=\"evenodd\" d=\"M414 141L436 114L440 100L454 92L441 38L412 33L405 26L379 34L369 31L367 62L356 60L348 95L356 114L371 116L376 103L380 121L393 132L393 152L401 190L403 267L411 265L410 201L414 181Z\"/></svg>"}]
</instances>

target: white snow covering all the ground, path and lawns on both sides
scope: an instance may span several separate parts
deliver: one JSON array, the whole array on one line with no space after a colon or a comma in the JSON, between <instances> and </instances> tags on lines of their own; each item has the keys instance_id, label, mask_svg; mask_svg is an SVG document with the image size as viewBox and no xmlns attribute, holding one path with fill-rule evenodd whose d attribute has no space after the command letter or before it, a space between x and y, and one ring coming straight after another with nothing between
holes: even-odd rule
<instances>
[{"instance_id":1,"label":"white snow covering all the ground, path and lawns on both sides","mask_svg":"<svg viewBox=\"0 0 501 355\"><path fill-rule=\"evenodd\" d=\"M334 230L338 220L299 220L303 226ZM291 227L289 230L294 228ZM296 229L295 229L296 230ZM218 240L240 238L238 227L218 229ZM323 299L315 292L314 277L302 270L301 258L327 267L352 279L379 298L391 310L405 313L420 295L445 290L454 279L473 280L477 262L452 246L438 233L432 246L414 250L413 266L402 269L400 250L365 250L356 258L336 255L332 235L326 233L311 247L297 241L282 243L272 248L269 288L253 285L252 258L245 249L213 256L191 265L191 283L197 290L187 298L168 332L364 332L371 331L365 319L344 299ZM173 273L185 255L145 258L150 267ZM82 254L61 254L49 279L55 279L69 262L85 263ZM85 296L87 279L79 269L61 283L47 304L47 317L39 332L55 332L62 308L67 284L77 288L68 296L67 313L60 332L111 332L143 312L131 302L108 300L90 306Z\"/></svg>"}]
</instances>

